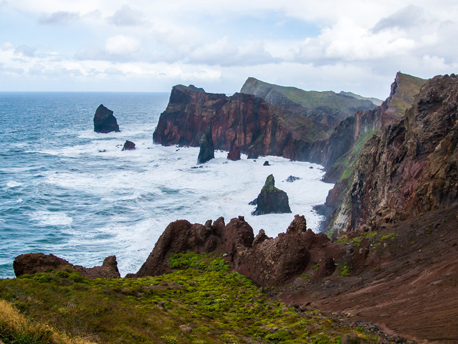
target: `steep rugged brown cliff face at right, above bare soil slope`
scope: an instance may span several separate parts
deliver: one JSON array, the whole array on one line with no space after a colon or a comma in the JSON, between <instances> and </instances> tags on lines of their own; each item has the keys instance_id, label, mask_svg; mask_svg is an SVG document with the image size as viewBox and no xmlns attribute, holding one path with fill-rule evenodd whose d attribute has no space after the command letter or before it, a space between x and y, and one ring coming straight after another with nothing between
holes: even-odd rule
<instances>
[{"instance_id":1,"label":"steep rugged brown cliff face at right, above bare soil slope","mask_svg":"<svg viewBox=\"0 0 458 344\"><path fill-rule=\"evenodd\" d=\"M362 148L330 231L375 229L458 202L457 109L458 77L428 80L405 116Z\"/></svg>"}]
</instances>

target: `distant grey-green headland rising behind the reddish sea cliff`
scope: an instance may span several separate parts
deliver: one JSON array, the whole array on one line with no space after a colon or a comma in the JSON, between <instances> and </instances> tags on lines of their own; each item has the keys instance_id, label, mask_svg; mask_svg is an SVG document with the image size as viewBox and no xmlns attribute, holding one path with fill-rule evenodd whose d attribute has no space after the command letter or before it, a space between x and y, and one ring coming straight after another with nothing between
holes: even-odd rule
<instances>
[{"instance_id":1,"label":"distant grey-green headland rising behind the reddish sea cliff","mask_svg":"<svg viewBox=\"0 0 458 344\"><path fill-rule=\"evenodd\" d=\"M332 91L304 91L296 87L269 84L249 77L240 93L253 94L267 102L327 125L332 130L341 120L357 111L374 109L367 98Z\"/></svg>"}]
</instances>

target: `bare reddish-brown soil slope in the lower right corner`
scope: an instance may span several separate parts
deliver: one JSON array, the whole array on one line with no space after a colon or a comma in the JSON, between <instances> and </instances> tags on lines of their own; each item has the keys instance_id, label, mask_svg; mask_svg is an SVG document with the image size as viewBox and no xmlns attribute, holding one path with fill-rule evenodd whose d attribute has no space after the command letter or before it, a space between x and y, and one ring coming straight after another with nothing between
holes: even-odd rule
<instances>
[{"instance_id":1,"label":"bare reddish-brown soil slope in the lower right corner","mask_svg":"<svg viewBox=\"0 0 458 344\"><path fill-rule=\"evenodd\" d=\"M354 247L346 258L359 267L354 276L338 277L336 269L326 279L297 280L276 298L346 312L418 342L458 343L458 206L379 230L389 233L396 235Z\"/></svg>"}]
</instances>

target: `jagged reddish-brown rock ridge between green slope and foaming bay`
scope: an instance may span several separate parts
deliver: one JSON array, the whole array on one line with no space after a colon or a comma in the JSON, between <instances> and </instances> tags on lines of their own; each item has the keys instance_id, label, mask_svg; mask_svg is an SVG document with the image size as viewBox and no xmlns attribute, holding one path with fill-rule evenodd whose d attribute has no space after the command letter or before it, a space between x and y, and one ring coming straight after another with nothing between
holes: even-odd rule
<instances>
[{"instance_id":1,"label":"jagged reddish-brown rock ridge between green slope and foaming bay","mask_svg":"<svg viewBox=\"0 0 458 344\"><path fill-rule=\"evenodd\" d=\"M299 215L287 232L275 239L264 230L254 237L253 229L241 216L227 225L223 218L213 223L209 220L205 225L178 220L165 228L140 270L126 277L168 273L170 255L186 251L225 254L234 271L260 286L283 285L319 261L345 254L342 245L332 244L325 234L307 229L305 218Z\"/></svg>"}]
</instances>

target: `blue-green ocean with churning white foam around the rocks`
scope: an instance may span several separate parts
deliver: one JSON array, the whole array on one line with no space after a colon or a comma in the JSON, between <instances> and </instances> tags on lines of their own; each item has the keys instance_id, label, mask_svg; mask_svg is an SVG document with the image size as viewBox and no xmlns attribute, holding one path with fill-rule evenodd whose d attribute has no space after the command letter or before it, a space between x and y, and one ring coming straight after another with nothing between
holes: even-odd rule
<instances>
[{"instance_id":1,"label":"blue-green ocean with churning white foam around the rocks","mask_svg":"<svg viewBox=\"0 0 458 344\"><path fill-rule=\"evenodd\" d=\"M269 236L284 232L295 214L319 230L333 184L323 168L277 156L255 162L227 152L196 166L198 148L153 143L168 93L0 93L0 278L14 277L23 253L52 253L84 267L116 255L122 276L136 272L165 227L186 219L205 223L239 215ZM94 133L103 103L120 133ZM136 150L121 151L126 140ZM271 166L263 166L265 161ZM266 177L287 192L292 214L251 216ZM292 183L288 176L300 177Z\"/></svg>"}]
</instances>

